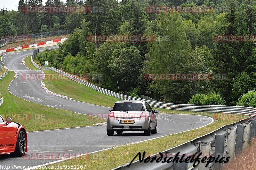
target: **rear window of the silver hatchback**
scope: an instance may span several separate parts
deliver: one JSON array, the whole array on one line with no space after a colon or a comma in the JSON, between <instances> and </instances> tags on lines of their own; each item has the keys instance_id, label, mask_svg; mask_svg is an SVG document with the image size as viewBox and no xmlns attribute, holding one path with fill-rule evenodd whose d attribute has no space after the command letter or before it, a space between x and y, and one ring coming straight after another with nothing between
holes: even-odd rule
<instances>
[{"instance_id":1,"label":"rear window of the silver hatchback","mask_svg":"<svg viewBox=\"0 0 256 170\"><path fill-rule=\"evenodd\" d=\"M112 111L144 111L142 103L115 103Z\"/></svg>"}]
</instances>

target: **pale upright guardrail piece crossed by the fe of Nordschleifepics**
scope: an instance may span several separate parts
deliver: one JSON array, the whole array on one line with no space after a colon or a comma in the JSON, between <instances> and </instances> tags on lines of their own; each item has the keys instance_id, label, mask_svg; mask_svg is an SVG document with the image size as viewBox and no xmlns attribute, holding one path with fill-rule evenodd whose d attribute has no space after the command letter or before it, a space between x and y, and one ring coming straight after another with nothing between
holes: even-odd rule
<instances>
[{"instance_id":1,"label":"pale upright guardrail piece crossed by the fe of Nordschleifepics","mask_svg":"<svg viewBox=\"0 0 256 170\"><path fill-rule=\"evenodd\" d=\"M199 144L199 152L202 152L202 155L200 156L201 159L203 157L209 157L210 156L210 151L211 151L211 142L200 142ZM202 163L200 162L198 164L198 170L209 170L210 166L205 167L205 165L207 164L207 162Z\"/></svg>"}]
</instances>

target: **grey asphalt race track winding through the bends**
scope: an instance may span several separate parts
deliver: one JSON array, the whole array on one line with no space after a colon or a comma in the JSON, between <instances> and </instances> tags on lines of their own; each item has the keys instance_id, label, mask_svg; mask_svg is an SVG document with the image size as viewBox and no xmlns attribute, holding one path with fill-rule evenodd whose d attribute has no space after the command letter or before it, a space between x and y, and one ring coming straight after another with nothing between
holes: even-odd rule
<instances>
[{"instance_id":1,"label":"grey asphalt race track winding through the bends","mask_svg":"<svg viewBox=\"0 0 256 170\"><path fill-rule=\"evenodd\" d=\"M47 47L57 48L57 46ZM44 48L39 49L40 52ZM93 104L78 102L65 99L59 96L51 95L41 87L41 81L23 80L22 74L42 73L28 69L22 63L22 59L32 54L32 50L7 53L2 57L5 66L12 71L18 72L19 76L14 79L9 87L9 91L22 99L30 102L42 104L63 110L70 110L82 114L102 114L109 113L108 107L97 106ZM0 107L1 110L1 107ZM1 114L1 112L0 112ZM0 165L6 166L37 166L49 162L63 159L60 153L68 153L70 156L75 153L84 154L113 146L124 145L132 142L139 142L151 138L157 138L173 133L187 131L205 126L212 122L212 119L196 115L176 115L176 114L157 114L158 132L151 136L144 136L143 132L124 132L122 135L109 137L106 134L106 126L91 126L81 128L70 128L52 131L39 131L28 133L28 152L24 157L11 157L9 154L0 156ZM45 120L47 121L47 120ZM142 149L143 152L143 149ZM42 159L40 154L51 155L54 158ZM71 153L74 153L73 155ZM34 157L35 156L35 157ZM128 162L128 161L127 161ZM90 167L88 167L90 169Z\"/></svg>"}]
</instances>

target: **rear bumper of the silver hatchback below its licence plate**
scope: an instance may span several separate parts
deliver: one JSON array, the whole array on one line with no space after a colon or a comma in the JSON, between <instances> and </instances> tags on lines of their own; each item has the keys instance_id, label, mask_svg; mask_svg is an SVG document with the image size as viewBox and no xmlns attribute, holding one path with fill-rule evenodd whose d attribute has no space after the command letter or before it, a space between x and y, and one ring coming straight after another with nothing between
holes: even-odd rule
<instances>
[{"instance_id":1,"label":"rear bumper of the silver hatchback below its licence plate","mask_svg":"<svg viewBox=\"0 0 256 170\"><path fill-rule=\"evenodd\" d=\"M145 131L148 130L150 120L135 120L133 124L120 124L119 120L107 120L108 130L114 131Z\"/></svg>"}]
</instances>

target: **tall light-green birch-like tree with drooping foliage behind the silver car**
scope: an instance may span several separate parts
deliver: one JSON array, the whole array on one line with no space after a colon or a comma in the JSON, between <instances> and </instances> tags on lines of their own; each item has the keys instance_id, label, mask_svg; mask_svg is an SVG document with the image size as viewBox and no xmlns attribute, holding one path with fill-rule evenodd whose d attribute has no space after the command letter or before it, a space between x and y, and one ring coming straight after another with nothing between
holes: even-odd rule
<instances>
[{"instance_id":1,"label":"tall light-green birch-like tree with drooping foliage behind the silver car","mask_svg":"<svg viewBox=\"0 0 256 170\"><path fill-rule=\"evenodd\" d=\"M208 73L206 58L211 55L209 49L206 46L191 48L190 42L186 40L180 15L162 13L157 20L158 32L168 37L168 40L148 43L148 60L144 63L147 73ZM147 30L145 34L152 35L153 32ZM192 95L209 90L210 81L156 80L152 84L162 88L158 93L163 95L165 102L187 103Z\"/></svg>"}]
</instances>

